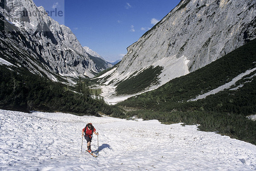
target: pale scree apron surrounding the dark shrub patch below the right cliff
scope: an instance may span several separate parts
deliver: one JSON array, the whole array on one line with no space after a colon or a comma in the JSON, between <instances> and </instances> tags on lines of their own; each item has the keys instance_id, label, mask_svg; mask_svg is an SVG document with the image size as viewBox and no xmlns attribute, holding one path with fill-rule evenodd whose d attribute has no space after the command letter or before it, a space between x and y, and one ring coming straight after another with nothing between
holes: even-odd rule
<instances>
[{"instance_id":1,"label":"pale scree apron surrounding the dark shrub patch below the right cliff","mask_svg":"<svg viewBox=\"0 0 256 171\"><path fill-rule=\"evenodd\" d=\"M113 68L113 70L108 71L107 73L103 74L102 76L99 76L97 78L104 78L105 76L110 76L108 80L104 83L105 85L99 86L99 88L102 89L102 97L105 98L105 101L108 104L117 104L121 101L125 101L126 99L135 96L140 95L142 93L155 90L156 88L162 86L163 84L166 84L168 81L172 80L173 78L184 76L189 73L189 68L187 66L189 60L185 56L182 56L180 58L176 58L175 56L170 56L167 58L163 58L158 60L157 62L154 62L152 66L157 67L163 67L163 70L161 71L159 78L159 84L153 85L151 87L146 88L143 92L132 94L132 95L119 95L116 96L116 83L119 81L124 81L125 79L128 79L129 76L131 76L130 72L127 73L119 73L116 68ZM133 76L136 76L137 74L143 72L147 67L141 68L136 74ZM113 81L112 84L109 84L111 81Z\"/></svg>"}]
</instances>

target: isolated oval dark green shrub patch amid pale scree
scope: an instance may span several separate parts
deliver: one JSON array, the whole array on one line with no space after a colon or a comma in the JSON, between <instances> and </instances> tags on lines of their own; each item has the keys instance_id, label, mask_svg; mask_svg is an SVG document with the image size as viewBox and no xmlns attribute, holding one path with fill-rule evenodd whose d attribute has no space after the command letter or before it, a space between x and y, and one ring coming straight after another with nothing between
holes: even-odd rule
<instances>
[{"instance_id":1,"label":"isolated oval dark green shrub patch amid pale scree","mask_svg":"<svg viewBox=\"0 0 256 171\"><path fill-rule=\"evenodd\" d=\"M117 94L134 94L143 91L145 88L158 84L158 76L160 75L163 67L150 66L134 76L131 75L125 81L122 81L116 87Z\"/></svg>"}]
</instances>

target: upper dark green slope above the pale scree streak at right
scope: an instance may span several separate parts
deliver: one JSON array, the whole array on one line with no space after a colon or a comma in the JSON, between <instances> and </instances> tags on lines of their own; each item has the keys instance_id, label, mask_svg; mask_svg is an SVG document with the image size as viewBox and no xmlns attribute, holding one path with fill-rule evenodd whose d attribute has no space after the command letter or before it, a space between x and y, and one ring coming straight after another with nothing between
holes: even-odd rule
<instances>
[{"instance_id":1,"label":"upper dark green slope above the pale scree streak at right","mask_svg":"<svg viewBox=\"0 0 256 171\"><path fill-rule=\"evenodd\" d=\"M192 104L186 101L231 81L240 73L255 67L255 62L256 40L253 40L193 73L175 78L157 90L129 98L119 105L152 110L164 107L170 111L173 105L177 106L181 101L182 104Z\"/></svg>"}]
</instances>

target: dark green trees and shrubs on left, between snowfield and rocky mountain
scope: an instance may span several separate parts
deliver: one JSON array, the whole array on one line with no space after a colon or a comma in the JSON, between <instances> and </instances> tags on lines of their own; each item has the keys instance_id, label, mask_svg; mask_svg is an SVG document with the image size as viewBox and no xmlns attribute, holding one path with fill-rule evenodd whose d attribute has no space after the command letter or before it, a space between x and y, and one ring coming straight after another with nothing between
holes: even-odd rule
<instances>
[{"instance_id":1,"label":"dark green trees and shrubs on left, between snowfield and rocky mountain","mask_svg":"<svg viewBox=\"0 0 256 171\"><path fill-rule=\"evenodd\" d=\"M92 95L86 80L75 87L30 73L26 69L0 65L0 108L29 112L70 112L76 115L123 115L118 107ZM93 98L92 96L95 96Z\"/></svg>"}]
</instances>

